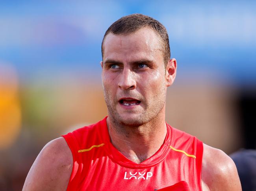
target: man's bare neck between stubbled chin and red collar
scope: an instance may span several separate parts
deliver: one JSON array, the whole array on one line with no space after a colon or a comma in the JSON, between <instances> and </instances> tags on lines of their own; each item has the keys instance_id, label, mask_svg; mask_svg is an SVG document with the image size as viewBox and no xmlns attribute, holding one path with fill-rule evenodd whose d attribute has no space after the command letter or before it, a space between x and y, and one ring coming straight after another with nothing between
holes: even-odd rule
<instances>
[{"instance_id":1,"label":"man's bare neck between stubbled chin and red collar","mask_svg":"<svg viewBox=\"0 0 256 191\"><path fill-rule=\"evenodd\" d=\"M107 123L113 146L128 159L138 164L160 149L167 133L164 115L143 126L122 127L121 131L118 129L120 127L115 126L109 117Z\"/></svg>"}]
</instances>

